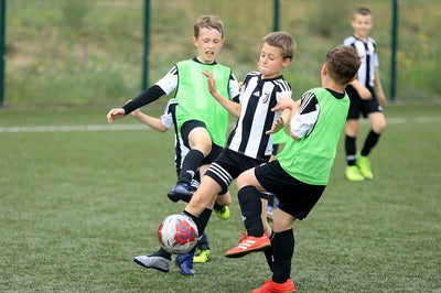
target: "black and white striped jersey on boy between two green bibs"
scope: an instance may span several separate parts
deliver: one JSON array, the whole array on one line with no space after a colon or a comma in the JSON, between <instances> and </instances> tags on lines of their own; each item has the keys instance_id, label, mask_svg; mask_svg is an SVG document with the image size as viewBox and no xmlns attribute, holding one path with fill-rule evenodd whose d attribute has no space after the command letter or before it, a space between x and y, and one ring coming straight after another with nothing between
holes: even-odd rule
<instances>
[{"instance_id":1,"label":"black and white striped jersey on boy between two green bibs","mask_svg":"<svg viewBox=\"0 0 441 293\"><path fill-rule=\"evenodd\" d=\"M271 109L280 98L291 98L291 86L283 76L261 79L260 73L248 73L240 90L240 116L226 148L252 159L271 155L272 135L265 132L281 113Z\"/></svg>"}]
</instances>

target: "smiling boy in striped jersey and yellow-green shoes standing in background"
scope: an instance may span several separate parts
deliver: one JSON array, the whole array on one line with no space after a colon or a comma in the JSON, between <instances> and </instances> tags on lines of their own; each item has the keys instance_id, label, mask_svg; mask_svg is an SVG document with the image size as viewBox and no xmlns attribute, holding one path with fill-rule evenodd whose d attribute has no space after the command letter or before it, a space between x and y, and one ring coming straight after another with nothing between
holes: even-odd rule
<instances>
[{"instance_id":1,"label":"smiling boy in striped jersey and yellow-green shoes standing in background","mask_svg":"<svg viewBox=\"0 0 441 293\"><path fill-rule=\"evenodd\" d=\"M374 26L370 10L367 8L357 9L351 24L354 29L354 34L346 37L343 44L353 46L358 51L362 56L362 66L357 72L357 79L346 87L351 106L346 120L345 150L347 167L345 174L349 181L364 181L365 178L374 178L367 155L377 144L386 128L386 119L381 108L385 105L386 97L377 69L379 63L376 43L374 39L367 35ZM362 151L357 153L356 139L361 113L364 118L369 118L372 129L366 137Z\"/></svg>"}]
</instances>

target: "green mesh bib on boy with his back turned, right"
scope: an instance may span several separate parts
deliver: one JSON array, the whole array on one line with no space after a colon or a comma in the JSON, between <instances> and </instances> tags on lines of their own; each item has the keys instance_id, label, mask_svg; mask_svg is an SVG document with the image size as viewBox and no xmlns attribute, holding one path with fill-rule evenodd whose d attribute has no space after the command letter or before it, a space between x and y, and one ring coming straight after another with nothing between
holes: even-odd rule
<instances>
[{"instance_id":1,"label":"green mesh bib on boy with his back turned, right","mask_svg":"<svg viewBox=\"0 0 441 293\"><path fill-rule=\"evenodd\" d=\"M309 93L314 93L319 100L318 122L309 137L290 140L277 159L281 167L294 178L312 185L326 185L349 109L349 99L347 94L343 99L336 99L324 88L313 88Z\"/></svg>"}]
</instances>

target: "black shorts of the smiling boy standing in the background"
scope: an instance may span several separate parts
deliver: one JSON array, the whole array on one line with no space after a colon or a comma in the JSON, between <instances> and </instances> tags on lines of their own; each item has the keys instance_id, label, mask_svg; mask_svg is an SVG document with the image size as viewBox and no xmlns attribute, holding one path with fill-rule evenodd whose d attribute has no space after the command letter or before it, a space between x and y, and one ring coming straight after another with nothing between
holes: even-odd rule
<instances>
[{"instance_id":1,"label":"black shorts of the smiling boy standing in the background","mask_svg":"<svg viewBox=\"0 0 441 293\"><path fill-rule=\"evenodd\" d=\"M367 87L367 89L370 91L373 98L364 100L359 97L358 91L352 85L346 86L345 90L351 100L347 119L358 119L361 113L363 115L363 118L366 118L369 113L383 112L383 108L378 104L374 88Z\"/></svg>"}]
</instances>

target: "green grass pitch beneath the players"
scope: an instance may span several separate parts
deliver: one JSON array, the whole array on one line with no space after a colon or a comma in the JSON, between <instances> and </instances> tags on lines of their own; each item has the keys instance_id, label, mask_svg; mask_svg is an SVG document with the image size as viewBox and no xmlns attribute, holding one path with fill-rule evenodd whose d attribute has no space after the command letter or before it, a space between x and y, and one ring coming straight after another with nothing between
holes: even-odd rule
<instances>
[{"instance_id":1,"label":"green grass pitch beneath the players","mask_svg":"<svg viewBox=\"0 0 441 293\"><path fill-rule=\"evenodd\" d=\"M139 127L131 117L106 127L107 110L0 110L0 292L249 292L269 279L261 253L223 257L243 229L235 186L232 217L213 216L213 259L195 276L132 261L183 208L165 196L173 135L118 129ZM294 224L298 292L441 292L440 112L386 108L372 182L344 178L340 143L324 196Z\"/></svg>"}]
</instances>

